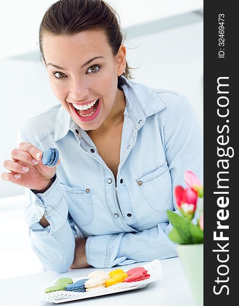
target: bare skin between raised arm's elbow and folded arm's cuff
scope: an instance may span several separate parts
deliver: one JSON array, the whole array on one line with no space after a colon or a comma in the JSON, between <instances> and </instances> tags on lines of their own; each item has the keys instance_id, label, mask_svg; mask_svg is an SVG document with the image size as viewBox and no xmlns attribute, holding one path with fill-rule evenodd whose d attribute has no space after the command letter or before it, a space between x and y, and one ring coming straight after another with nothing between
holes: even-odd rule
<instances>
[{"instance_id":1,"label":"bare skin between raised arm's elbow and folded arm's cuff","mask_svg":"<svg viewBox=\"0 0 239 306\"><path fill-rule=\"evenodd\" d=\"M80 268L87 268L89 265L86 261L85 255L85 243L86 239L81 237L75 238L75 257L72 265L70 266L71 269L80 269Z\"/></svg>"}]
</instances>

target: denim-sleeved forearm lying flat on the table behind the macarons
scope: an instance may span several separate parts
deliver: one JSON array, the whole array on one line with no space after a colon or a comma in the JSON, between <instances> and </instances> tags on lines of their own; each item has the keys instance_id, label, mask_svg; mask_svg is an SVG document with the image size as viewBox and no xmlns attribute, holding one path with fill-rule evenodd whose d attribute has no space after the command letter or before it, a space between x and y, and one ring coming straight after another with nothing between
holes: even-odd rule
<instances>
[{"instance_id":1,"label":"denim-sleeved forearm lying flat on the table behind the macarons","mask_svg":"<svg viewBox=\"0 0 239 306\"><path fill-rule=\"evenodd\" d=\"M135 234L88 237L85 247L87 263L96 268L111 268L176 257L175 244L169 240L168 230L168 223L159 223Z\"/></svg>"}]
</instances>

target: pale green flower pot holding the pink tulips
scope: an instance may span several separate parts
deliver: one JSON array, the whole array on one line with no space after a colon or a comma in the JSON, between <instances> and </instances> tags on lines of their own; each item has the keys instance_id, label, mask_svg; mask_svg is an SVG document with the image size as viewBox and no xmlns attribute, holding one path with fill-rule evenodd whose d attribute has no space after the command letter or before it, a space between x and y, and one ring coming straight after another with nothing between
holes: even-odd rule
<instances>
[{"instance_id":1,"label":"pale green flower pot holding the pink tulips","mask_svg":"<svg viewBox=\"0 0 239 306\"><path fill-rule=\"evenodd\" d=\"M178 256L184 267L196 305L203 305L203 243L178 244Z\"/></svg>"}]
</instances>

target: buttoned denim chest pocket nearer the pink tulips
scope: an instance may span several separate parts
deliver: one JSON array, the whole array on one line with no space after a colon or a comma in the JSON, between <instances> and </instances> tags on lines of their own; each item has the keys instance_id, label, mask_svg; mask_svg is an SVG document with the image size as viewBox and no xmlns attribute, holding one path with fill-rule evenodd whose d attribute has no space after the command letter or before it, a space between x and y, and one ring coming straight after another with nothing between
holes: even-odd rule
<instances>
[{"instance_id":1,"label":"buttoned denim chest pocket nearer the pink tulips","mask_svg":"<svg viewBox=\"0 0 239 306\"><path fill-rule=\"evenodd\" d=\"M138 177L136 182L153 210L165 212L172 207L172 182L167 162Z\"/></svg>"}]
</instances>

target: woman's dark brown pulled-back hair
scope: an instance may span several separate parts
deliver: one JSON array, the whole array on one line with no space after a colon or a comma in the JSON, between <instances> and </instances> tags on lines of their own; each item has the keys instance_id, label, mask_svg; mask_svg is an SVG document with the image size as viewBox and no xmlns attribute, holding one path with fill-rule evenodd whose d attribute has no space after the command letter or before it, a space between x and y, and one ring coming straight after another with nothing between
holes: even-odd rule
<instances>
[{"instance_id":1,"label":"woman's dark brown pulled-back hair","mask_svg":"<svg viewBox=\"0 0 239 306\"><path fill-rule=\"evenodd\" d=\"M43 16L39 29L39 45L41 58L45 62L42 38L44 34L72 36L83 30L102 29L112 49L117 55L123 36L119 27L118 14L103 0L59 0L52 4ZM123 72L131 78L126 62ZM132 78L131 78L132 79Z\"/></svg>"}]
</instances>

